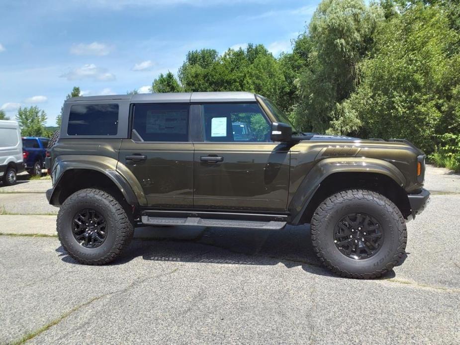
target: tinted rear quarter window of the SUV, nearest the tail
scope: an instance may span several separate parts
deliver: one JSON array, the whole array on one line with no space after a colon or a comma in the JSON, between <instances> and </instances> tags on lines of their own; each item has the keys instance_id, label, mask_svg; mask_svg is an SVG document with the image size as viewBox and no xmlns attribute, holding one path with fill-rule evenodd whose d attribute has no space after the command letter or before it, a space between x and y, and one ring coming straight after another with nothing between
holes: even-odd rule
<instances>
[{"instance_id":1,"label":"tinted rear quarter window of the SUV, nearest the tail","mask_svg":"<svg viewBox=\"0 0 460 345\"><path fill-rule=\"evenodd\" d=\"M72 105L67 134L107 136L118 133L118 104Z\"/></svg>"}]
</instances>

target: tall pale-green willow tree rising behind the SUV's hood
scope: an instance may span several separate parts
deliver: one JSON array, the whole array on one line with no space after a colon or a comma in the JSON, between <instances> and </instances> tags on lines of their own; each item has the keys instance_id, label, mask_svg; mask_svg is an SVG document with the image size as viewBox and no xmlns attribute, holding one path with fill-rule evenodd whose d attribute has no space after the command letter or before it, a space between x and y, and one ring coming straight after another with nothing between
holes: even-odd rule
<instances>
[{"instance_id":1,"label":"tall pale-green willow tree rising behind the SUV's hood","mask_svg":"<svg viewBox=\"0 0 460 345\"><path fill-rule=\"evenodd\" d=\"M372 47L373 33L383 18L380 7L364 0L323 0L318 5L308 27L312 44L308 68L298 83L299 127L324 132L340 116L343 109L337 107L356 90L359 63Z\"/></svg>"}]
</instances>

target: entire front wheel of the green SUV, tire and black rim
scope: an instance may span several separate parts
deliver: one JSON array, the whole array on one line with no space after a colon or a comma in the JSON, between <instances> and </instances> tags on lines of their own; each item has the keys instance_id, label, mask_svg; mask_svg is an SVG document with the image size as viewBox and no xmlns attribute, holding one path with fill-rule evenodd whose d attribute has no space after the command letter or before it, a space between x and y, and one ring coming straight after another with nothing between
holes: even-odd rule
<instances>
[{"instance_id":1,"label":"entire front wheel of the green SUV, tire and black rim","mask_svg":"<svg viewBox=\"0 0 460 345\"><path fill-rule=\"evenodd\" d=\"M397 206L364 189L326 198L311 220L313 248L333 272L352 278L379 277L405 256L407 230Z\"/></svg>"}]
</instances>

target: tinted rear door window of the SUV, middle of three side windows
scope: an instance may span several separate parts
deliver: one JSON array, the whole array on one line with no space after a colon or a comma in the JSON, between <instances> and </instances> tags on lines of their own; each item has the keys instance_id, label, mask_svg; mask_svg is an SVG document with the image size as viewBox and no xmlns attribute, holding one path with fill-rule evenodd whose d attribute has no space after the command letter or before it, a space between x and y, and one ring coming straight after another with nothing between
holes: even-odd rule
<instances>
[{"instance_id":1,"label":"tinted rear door window of the SUV, middle of three side windows","mask_svg":"<svg viewBox=\"0 0 460 345\"><path fill-rule=\"evenodd\" d=\"M188 141L188 104L136 104L133 130L144 141Z\"/></svg>"}]
</instances>

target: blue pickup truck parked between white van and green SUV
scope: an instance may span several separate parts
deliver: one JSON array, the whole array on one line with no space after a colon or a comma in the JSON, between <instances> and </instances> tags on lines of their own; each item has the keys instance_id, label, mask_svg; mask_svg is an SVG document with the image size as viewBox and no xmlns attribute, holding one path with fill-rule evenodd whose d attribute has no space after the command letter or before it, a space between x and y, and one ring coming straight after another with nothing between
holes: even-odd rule
<instances>
[{"instance_id":1,"label":"blue pickup truck parked between white van and green SUV","mask_svg":"<svg viewBox=\"0 0 460 345\"><path fill-rule=\"evenodd\" d=\"M41 175L49 138L22 137L22 158L31 175Z\"/></svg>"}]
</instances>

